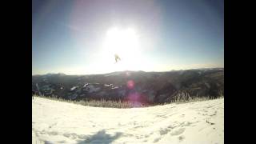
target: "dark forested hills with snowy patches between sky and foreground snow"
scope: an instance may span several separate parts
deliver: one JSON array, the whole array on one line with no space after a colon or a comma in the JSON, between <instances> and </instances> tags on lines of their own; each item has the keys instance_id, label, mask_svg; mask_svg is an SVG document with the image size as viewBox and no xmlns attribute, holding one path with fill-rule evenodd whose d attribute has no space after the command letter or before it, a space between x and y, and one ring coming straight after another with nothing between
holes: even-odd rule
<instances>
[{"instance_id":1,"label":"dark forested hills with snowy patches between sky and foreground snow","mask_svg":"<svg viewBox=\"0 0 256 144\"><path fill-rule=\"evenodd\" d=\"M224 68L168 72L120 71L110 74L32 76L32 90L49 97L170 102L177 96L224 95ZM130 99L131 98L131 99ZM135 98L135 99L134 99Z\"/></svg>"}]
</instances>

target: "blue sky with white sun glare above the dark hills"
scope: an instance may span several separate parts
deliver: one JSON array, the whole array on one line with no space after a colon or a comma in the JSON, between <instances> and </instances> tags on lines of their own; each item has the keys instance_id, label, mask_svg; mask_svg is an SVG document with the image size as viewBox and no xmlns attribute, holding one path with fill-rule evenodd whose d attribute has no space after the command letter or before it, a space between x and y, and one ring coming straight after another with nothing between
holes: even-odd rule
<instances>
[{"instance_id":1,"label":"blue sky with white sun glare above the dark hills","mask_svg":"<svg viewBox=\"0 0 256 144\"><path fill-rule=\"evenodd\" d=\"M223 1L33 0L32 8L32 74L224 67Z\"/></svg>"}]
</instances>

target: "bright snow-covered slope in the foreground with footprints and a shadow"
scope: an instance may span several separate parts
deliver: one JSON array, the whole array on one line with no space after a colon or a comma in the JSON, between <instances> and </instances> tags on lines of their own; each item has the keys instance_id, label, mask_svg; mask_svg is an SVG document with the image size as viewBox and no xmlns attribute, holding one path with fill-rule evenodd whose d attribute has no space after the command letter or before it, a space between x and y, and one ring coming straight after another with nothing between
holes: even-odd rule
<instances>
[{"instance_id":1,"label":"bright snow-covered slope in the foreground with footprints and a shadow","mask_svg":"<svg viewBox=\"0 0 256 144\"><path fill-rule=\"evenodd\" d=\"M224 98L114 109L32 101L33 143L224 143Z\"/></svg>"}]
</instances>

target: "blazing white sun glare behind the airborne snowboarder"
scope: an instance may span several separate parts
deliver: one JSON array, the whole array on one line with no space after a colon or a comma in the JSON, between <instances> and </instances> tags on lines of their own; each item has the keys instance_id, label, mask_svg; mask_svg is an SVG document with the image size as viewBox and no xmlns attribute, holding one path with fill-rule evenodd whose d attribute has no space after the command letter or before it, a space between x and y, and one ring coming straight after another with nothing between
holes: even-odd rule
<instances>
[{"instance_id":1,"label":"blazing white sun glare behind the airborne snowboarder","mask_svg":"<svg viewBox=\"0 0 256 144\"><path fill-rule=\"evenodd\" d=\"M109 71L135 70L140 54L138 32L134 28L111 27L106 30L101 54L102 63ZM121 58L116 64L114 54Z\"/></svg>"}]
</instances>

